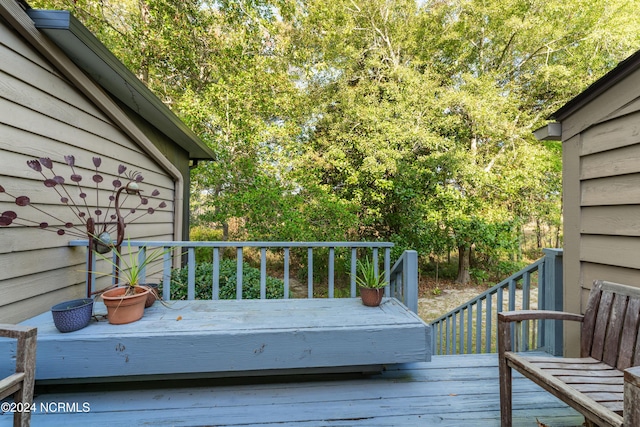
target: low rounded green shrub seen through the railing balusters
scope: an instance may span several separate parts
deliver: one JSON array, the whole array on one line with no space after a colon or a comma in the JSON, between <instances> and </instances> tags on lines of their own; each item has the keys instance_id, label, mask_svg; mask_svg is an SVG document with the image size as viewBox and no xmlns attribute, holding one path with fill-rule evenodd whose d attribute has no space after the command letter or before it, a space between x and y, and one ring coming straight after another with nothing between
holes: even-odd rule
<instances>
[{"instance_id":1,"label":"low rounded green shrub seen through the railing balusters","mask_svg":"<svg viewBox=\"0 0 640 427\"><path fill-rule=\"evenodd\" d=\"M171 299L187 299L188 268L176 269L171 272ZM195 271L195 298L211 299L213 263L204 262L196 264ZM236 299L237 263L231 259L220 261L220 299ZM284 282L271 276L267 276L267 299L284 297ZM243 264L242 271L242 298L260 298L260 270Z\"/></svg>"}]
</instances>

